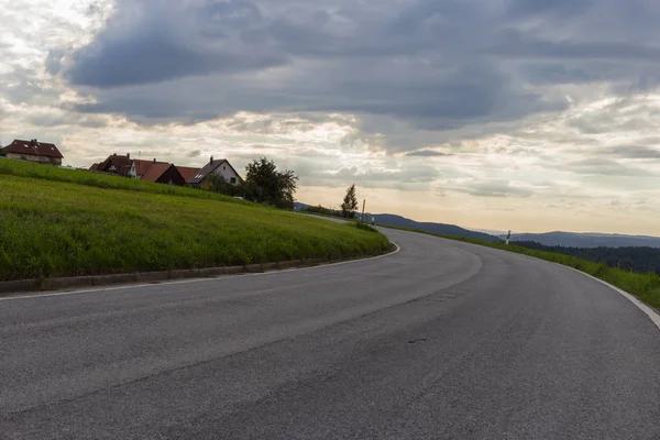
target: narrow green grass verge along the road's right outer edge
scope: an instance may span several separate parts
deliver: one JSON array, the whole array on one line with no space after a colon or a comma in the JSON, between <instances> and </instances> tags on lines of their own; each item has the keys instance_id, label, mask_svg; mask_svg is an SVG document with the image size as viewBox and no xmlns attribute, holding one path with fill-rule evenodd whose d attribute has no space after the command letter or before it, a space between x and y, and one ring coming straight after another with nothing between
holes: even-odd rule
<instances>
[{"instance_id":1,"label":"narrow green grass verge along the road's right outer edge","mask_svg":"<svg viewBox=\"0 0 660 440\"><path fill-rule=\"evenodd\" d=\"M384 226L383 228L392 227ZM603 279L614 286L617 286L623 290L626 290L629 294L635 295L648 305L660 308L660 275L656 273L639 274L634 272L622 271L616 267L609 267L604 263L596 264L586 260L576 258L574 256L557 254L553 252L536 251L522 246L517 246L515 244L506 245L505 243L493 243L484 240L473 240L462 237L433 234L430 232L421 230L410 230L407 228L392 229L407 230L413 232L425 233L428 235L441 237L443 239L463 241L465 243L473 243L482 246L501 249L503 251L515 252L519 254L534 256L540 260L563 264L564 266L576 268L586 274L595 276L596 278Z\"/></svg>"}]
</instances>

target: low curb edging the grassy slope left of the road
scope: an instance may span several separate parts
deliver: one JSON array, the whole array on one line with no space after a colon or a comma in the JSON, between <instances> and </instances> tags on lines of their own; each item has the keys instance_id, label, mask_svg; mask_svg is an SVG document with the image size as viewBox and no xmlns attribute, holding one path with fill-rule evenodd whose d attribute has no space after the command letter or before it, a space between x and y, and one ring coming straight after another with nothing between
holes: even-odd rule
<instances>
[{"instance_id":1,"label":"low curb edging the grassy slope left of the road","mask_svg":"<svg viewBox=\"0 0 660 440\"><path fill-rule=\"evenodd\" d=\"M170 271L158 271L158 272L136 272L129 274L109 274L109 275L89 275L89 276L73 276L73 277L58 277L58 278L44 278L44 279L19 279L11 282L0 282L0 297L20 296L22 293L34 293L34 292L53 292L53 290L68 290L87 287L103 287L113 285L128 285L131 284L160 284L163 282L170 282L177 279L191 279L191 278L218 278L223 276L237 276L237 275L250 275L250 274L263 274L271 272L282 272L286 270L299 270L307 267L315 267L320 265L331 265L350 263L358 261L366 261L373 258L380 258L383 256L393 255L400 251L400 248L391 242L391 248L386 253L383 254L367 254L361 256L339 257L339 256L327 256L317 258L304 258L283 261L274 263L258 263L258 264L245 264L239 266L219 266L219 267L205 267L205 268L193 268L193 270L170 270Z\"/></svg>"}]
</instances>

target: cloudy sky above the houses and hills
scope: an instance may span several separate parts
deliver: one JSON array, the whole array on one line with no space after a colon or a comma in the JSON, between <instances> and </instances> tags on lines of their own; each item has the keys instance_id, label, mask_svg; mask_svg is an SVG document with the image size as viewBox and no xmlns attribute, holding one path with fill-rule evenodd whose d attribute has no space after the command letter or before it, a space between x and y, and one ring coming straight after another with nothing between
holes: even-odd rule
<instances>
[{"instance_id":1,"label":"cloudy sky above the houses and hills","mask_svg":"<svg viewBox=\"0 0 660 440\"><path fill-rule=\"evenodd\" d=\"M0 143L234 167L298 199L660 234L657 0L0 0Z\"/></svg>"}]
</instances>

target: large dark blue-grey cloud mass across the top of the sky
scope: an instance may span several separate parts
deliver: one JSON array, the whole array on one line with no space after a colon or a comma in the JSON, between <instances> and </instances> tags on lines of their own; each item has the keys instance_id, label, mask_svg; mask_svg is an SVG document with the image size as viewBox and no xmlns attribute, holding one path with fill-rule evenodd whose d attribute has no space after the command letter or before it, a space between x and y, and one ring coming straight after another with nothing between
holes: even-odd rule
<instances>
[{"instance_id":1,"label":"large dark blue-grey cloud mass across the top of the sky","mask_svg":"<svg viewBox=\"0 0 660 440\"><path fill-rule=\"evenodd\" d=\"M96 98L79 110L141 123L328 112L372 118L367 135L378 133L370 124L389 119L459 130L568 106L529 85L653 88L660 38L652 6L119 0L66 76Z\"/></svg>"}]
</instances>

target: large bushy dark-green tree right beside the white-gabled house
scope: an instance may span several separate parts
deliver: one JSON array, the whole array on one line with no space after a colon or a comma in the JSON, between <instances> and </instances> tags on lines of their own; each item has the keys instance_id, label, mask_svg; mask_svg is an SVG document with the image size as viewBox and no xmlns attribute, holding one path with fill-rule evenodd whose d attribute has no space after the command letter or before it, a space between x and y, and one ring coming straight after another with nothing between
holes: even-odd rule
<instances>
[{"instance_id":1,"label":"large bushy dark-green tree right beside the white-gabled house","mask_svg":"<svg viewBox=\"0 0 660 440\"><path fill-rule=\"evenodd\" d=\"M298 176L293 170L279 172L275 163L266 157L254 160L245 166L245 198L276 208L294 207Z\"/></svg>"}]
</instances>

